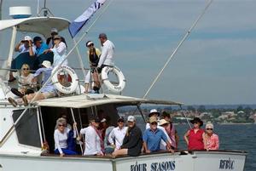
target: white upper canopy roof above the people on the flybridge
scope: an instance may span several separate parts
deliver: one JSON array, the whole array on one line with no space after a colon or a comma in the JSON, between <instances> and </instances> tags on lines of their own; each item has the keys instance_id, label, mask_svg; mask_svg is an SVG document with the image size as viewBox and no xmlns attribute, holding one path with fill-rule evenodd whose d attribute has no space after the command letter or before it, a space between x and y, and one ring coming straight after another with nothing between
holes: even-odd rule
<instances>
[{"instance_id":1,"label":"white upper canopy roof above the people on the flybridge","mask_svg":"<svg viewBox=\"0 0 256 171\"><path fill-rule=\"evenodd\" d=\"M50 36L51 28L66 29L70 21L58 17L30 17L25 19L0 20L0 31L17 26L17 31L36 32Z\"/></svg>"}]
</instances>

